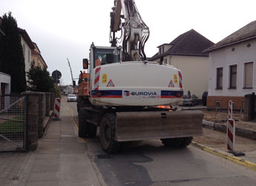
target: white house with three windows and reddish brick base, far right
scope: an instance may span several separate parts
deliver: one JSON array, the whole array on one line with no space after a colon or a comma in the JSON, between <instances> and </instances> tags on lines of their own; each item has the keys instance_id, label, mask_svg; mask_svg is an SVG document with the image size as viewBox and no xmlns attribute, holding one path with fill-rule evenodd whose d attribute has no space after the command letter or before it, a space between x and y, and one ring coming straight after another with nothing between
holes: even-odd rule
<instances>
[{"instance_id":1,"label":"white house with three windows and reddish brick base, far right","mask_svg":"<svg viewBox=\"0 0 256 186\"><path fill-rule=\"evenodd\" d=\"M243 108L244 95L256 92L256 21L209 47L209 108Z\"/></svg>"}]
</instances>

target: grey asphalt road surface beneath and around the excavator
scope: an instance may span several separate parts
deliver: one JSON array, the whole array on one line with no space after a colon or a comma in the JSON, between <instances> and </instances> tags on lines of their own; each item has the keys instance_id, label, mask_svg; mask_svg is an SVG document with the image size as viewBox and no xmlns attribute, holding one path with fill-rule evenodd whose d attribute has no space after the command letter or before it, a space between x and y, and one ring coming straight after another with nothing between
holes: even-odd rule
<instances>
[{"instance_id":1,"label":"grey asphalt road surface beneath and around the excavator","mask_svg":"<svg viewBox=\"0 0 256 186\"><path fill-rule=\"evenodd\" d=\"M78 123L76 103L68 103ZM99 131L98 131L99 133ZM256 172L189 145L163 147L160 140L133 142L119 154L102 151L99 135L85 139L87 156L105 185L256 185Z\"/></svg>"}]
</instances>

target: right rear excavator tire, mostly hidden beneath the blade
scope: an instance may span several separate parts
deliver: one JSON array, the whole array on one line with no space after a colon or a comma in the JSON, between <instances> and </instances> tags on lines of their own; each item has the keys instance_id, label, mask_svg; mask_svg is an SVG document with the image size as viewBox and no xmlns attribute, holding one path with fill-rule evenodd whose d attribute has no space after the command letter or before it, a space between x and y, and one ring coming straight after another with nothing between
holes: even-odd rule
<instances>
[{"instance_id":1,"label":"right rear excavator tire, mostly hidden beneath the blade","mask_svg":"<svg viewBox=\"0 0 256 186\"><path fill-rule=\"evenodd\" d=\"M163 145L168 148L184 148L188 146L193 137L178 137L178 138L168 138L168 139L161 139Z\"/></svg>"}]
</instances>

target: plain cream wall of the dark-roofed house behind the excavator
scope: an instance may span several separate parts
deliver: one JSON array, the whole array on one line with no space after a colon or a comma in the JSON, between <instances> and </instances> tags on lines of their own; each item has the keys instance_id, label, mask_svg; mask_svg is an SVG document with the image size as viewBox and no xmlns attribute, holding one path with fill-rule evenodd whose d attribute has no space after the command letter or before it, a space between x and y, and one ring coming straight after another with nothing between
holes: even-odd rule
<instances>
[{"instance_id":1,"label":"plain cream wall of the dark-roofed house behind the excavator","mask_svg":"<svg viewBox=\"0 0 256 186\"><path fill-rule=\"evenodd\" d=\"M209 57L173 55L165 58L168 64L181 70L184 94L189 90L201 98L208 89Z\"/></svg>"}]
</instances>

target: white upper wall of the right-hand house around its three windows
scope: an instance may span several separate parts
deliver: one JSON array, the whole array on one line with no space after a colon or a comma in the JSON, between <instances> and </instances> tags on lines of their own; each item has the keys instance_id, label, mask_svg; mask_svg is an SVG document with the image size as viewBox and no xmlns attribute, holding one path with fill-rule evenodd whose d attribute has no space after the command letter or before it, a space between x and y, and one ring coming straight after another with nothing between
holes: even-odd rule
<instances>
[{"instance_id":1,"label":"white upper wall of the right-hand house around its three windows","mask_svg":"<svg viewBox=\"0 0 256 186\"><path fill-rule=\"evenodd\" d=\"M247 47L251 44L251 47ZM232 51L234 48L234 51ZM211 96L244 96L256 92L255 61L256 40L234 44L218 49L209 55L209 95ZM244 63L253 62L253 89L243 89ZM237 89L229 89L229 66L237 65ZM217 90L217 68L223 67L223 89Z\"/></svg>"}]
</instances>

